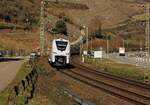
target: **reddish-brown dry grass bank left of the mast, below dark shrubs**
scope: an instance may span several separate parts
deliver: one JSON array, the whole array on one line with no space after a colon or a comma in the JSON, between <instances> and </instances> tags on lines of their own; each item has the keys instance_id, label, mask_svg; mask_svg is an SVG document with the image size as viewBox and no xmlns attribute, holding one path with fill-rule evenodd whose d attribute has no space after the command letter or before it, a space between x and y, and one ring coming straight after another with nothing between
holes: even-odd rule
<instances>
[{"instance_id":1,"label":"reddish-brown dry grass bank left of the mast, below dark shrubs","mask_svg":"<svg viewBox=\"0 0 150 105\"><path fill-rule=\"evenodd\" d=\"M8 49L31 50L38 47L39 37L32 33L7 33L0 34L0 45Z\"/></svg>"}]
</instances>

